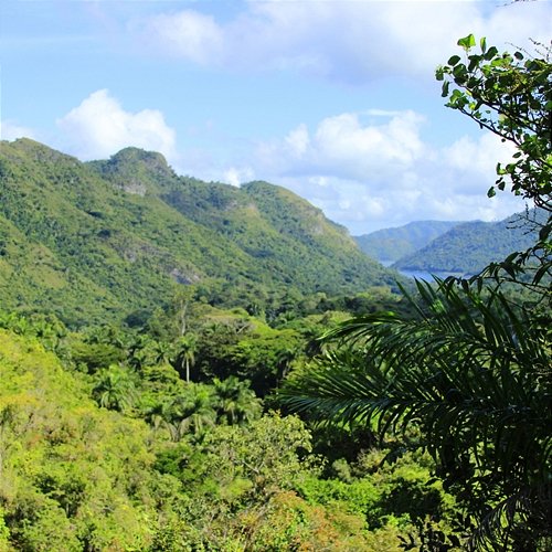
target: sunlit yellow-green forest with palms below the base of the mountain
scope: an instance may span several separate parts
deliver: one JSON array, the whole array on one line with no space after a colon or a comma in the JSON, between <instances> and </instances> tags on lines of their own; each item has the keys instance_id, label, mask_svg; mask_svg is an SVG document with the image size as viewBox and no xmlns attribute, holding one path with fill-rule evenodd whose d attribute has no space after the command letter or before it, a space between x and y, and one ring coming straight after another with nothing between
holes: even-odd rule
<instances>
[{"instance_id":1,"label":"sunlit yellow-green forest with palms below the base of the mountain","mask_svg":"<svg viewBox=\"0 0 552 552\"><path fill-rule=\"evenodd\" d=\"M215 315L187 382L182 340L0 312L0 550L400 552L448 527L427 455L384 464L397 443L309 428L250 389L336 320Z\"/></svg>"}]
</instances>

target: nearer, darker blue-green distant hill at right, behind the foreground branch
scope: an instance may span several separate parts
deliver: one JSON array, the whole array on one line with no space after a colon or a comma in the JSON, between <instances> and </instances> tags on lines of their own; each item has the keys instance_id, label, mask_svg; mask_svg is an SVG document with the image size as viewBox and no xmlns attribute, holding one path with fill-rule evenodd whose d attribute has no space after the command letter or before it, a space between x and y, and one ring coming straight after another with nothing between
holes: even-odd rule
<instances>
[{"instance_id":1,"label":"nearer, darker blue-green distant hill at right, behind the foreground branch","mask_svg":"<svg viewBox=\"0 0 552 552\"><path fill-rule=\"evenodd\" d=\"M489 263L505 259L514 251L534 244L540 211L518 213L499 222L466 222L417 252L399 259L393 267L403 270L476 274Z\"/></svg>"}]
</instances>

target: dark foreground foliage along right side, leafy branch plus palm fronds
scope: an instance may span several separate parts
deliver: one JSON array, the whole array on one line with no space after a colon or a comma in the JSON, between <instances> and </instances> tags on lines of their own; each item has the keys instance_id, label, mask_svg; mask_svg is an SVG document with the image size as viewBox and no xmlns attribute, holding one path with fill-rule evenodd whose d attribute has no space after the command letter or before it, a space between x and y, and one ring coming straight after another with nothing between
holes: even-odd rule
<instances>
[{"instance_id":1,"label":"dark foreground foliage along right side, leafy branch plus palm fronds","mask_svg":"<svg viewBox=\"0 0 552 552\"><path fill-rule=\"evenodd\" d=\"M416 295L404 294L413 318L343 322L282 397L319 423L361 425L427 450L464 512L468 548L549 550L552 64L549 52L502 54L485 40L477 51L473 35L458 45L464 60L437 70L443 96L517 146L497 168L497 188L544 210L535 242L470 279L418 283Z\"/></svg>"}]
</instances>

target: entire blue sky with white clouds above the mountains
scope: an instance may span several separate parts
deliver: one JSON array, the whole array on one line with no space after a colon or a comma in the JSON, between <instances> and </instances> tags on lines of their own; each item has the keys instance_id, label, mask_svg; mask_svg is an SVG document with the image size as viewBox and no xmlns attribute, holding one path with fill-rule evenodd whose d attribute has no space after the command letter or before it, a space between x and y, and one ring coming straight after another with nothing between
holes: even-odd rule
<instances>
[{"instance_id":1,"label":"entire blue sky with white clouds above the mountains","mask_svg":"<svg viewBox=\"0 0 552 552\"><path fill-rule=\"evenodd\" d=\"M4 140L267 180L354 235L523 208L486 198L511 151L444 107L434 72L469 32L550 43L550 1L3 0L0 18Z\"/></svg>"}]
</instances>

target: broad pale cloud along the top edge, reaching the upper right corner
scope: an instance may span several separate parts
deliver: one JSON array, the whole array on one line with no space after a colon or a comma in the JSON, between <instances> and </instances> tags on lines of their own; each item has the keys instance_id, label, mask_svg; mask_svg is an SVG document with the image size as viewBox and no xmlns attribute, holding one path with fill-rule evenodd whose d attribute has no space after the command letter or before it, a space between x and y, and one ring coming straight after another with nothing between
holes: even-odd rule
<instances>
[{"instance_id":1,"label":"broad pale cloud along the top edge, reaching the upper right corner","mask_svg":"<svg viewBox=\"0 0 552 552\"><path fill-rule=\"evenodd\" d=\"M294 68L349 83L433 74L470 32L489 43L550 40L549 2L257 2L230 21L199 11L155 15L144 34L173 55L225 67Z\"/></svg>"}]
</instances>

